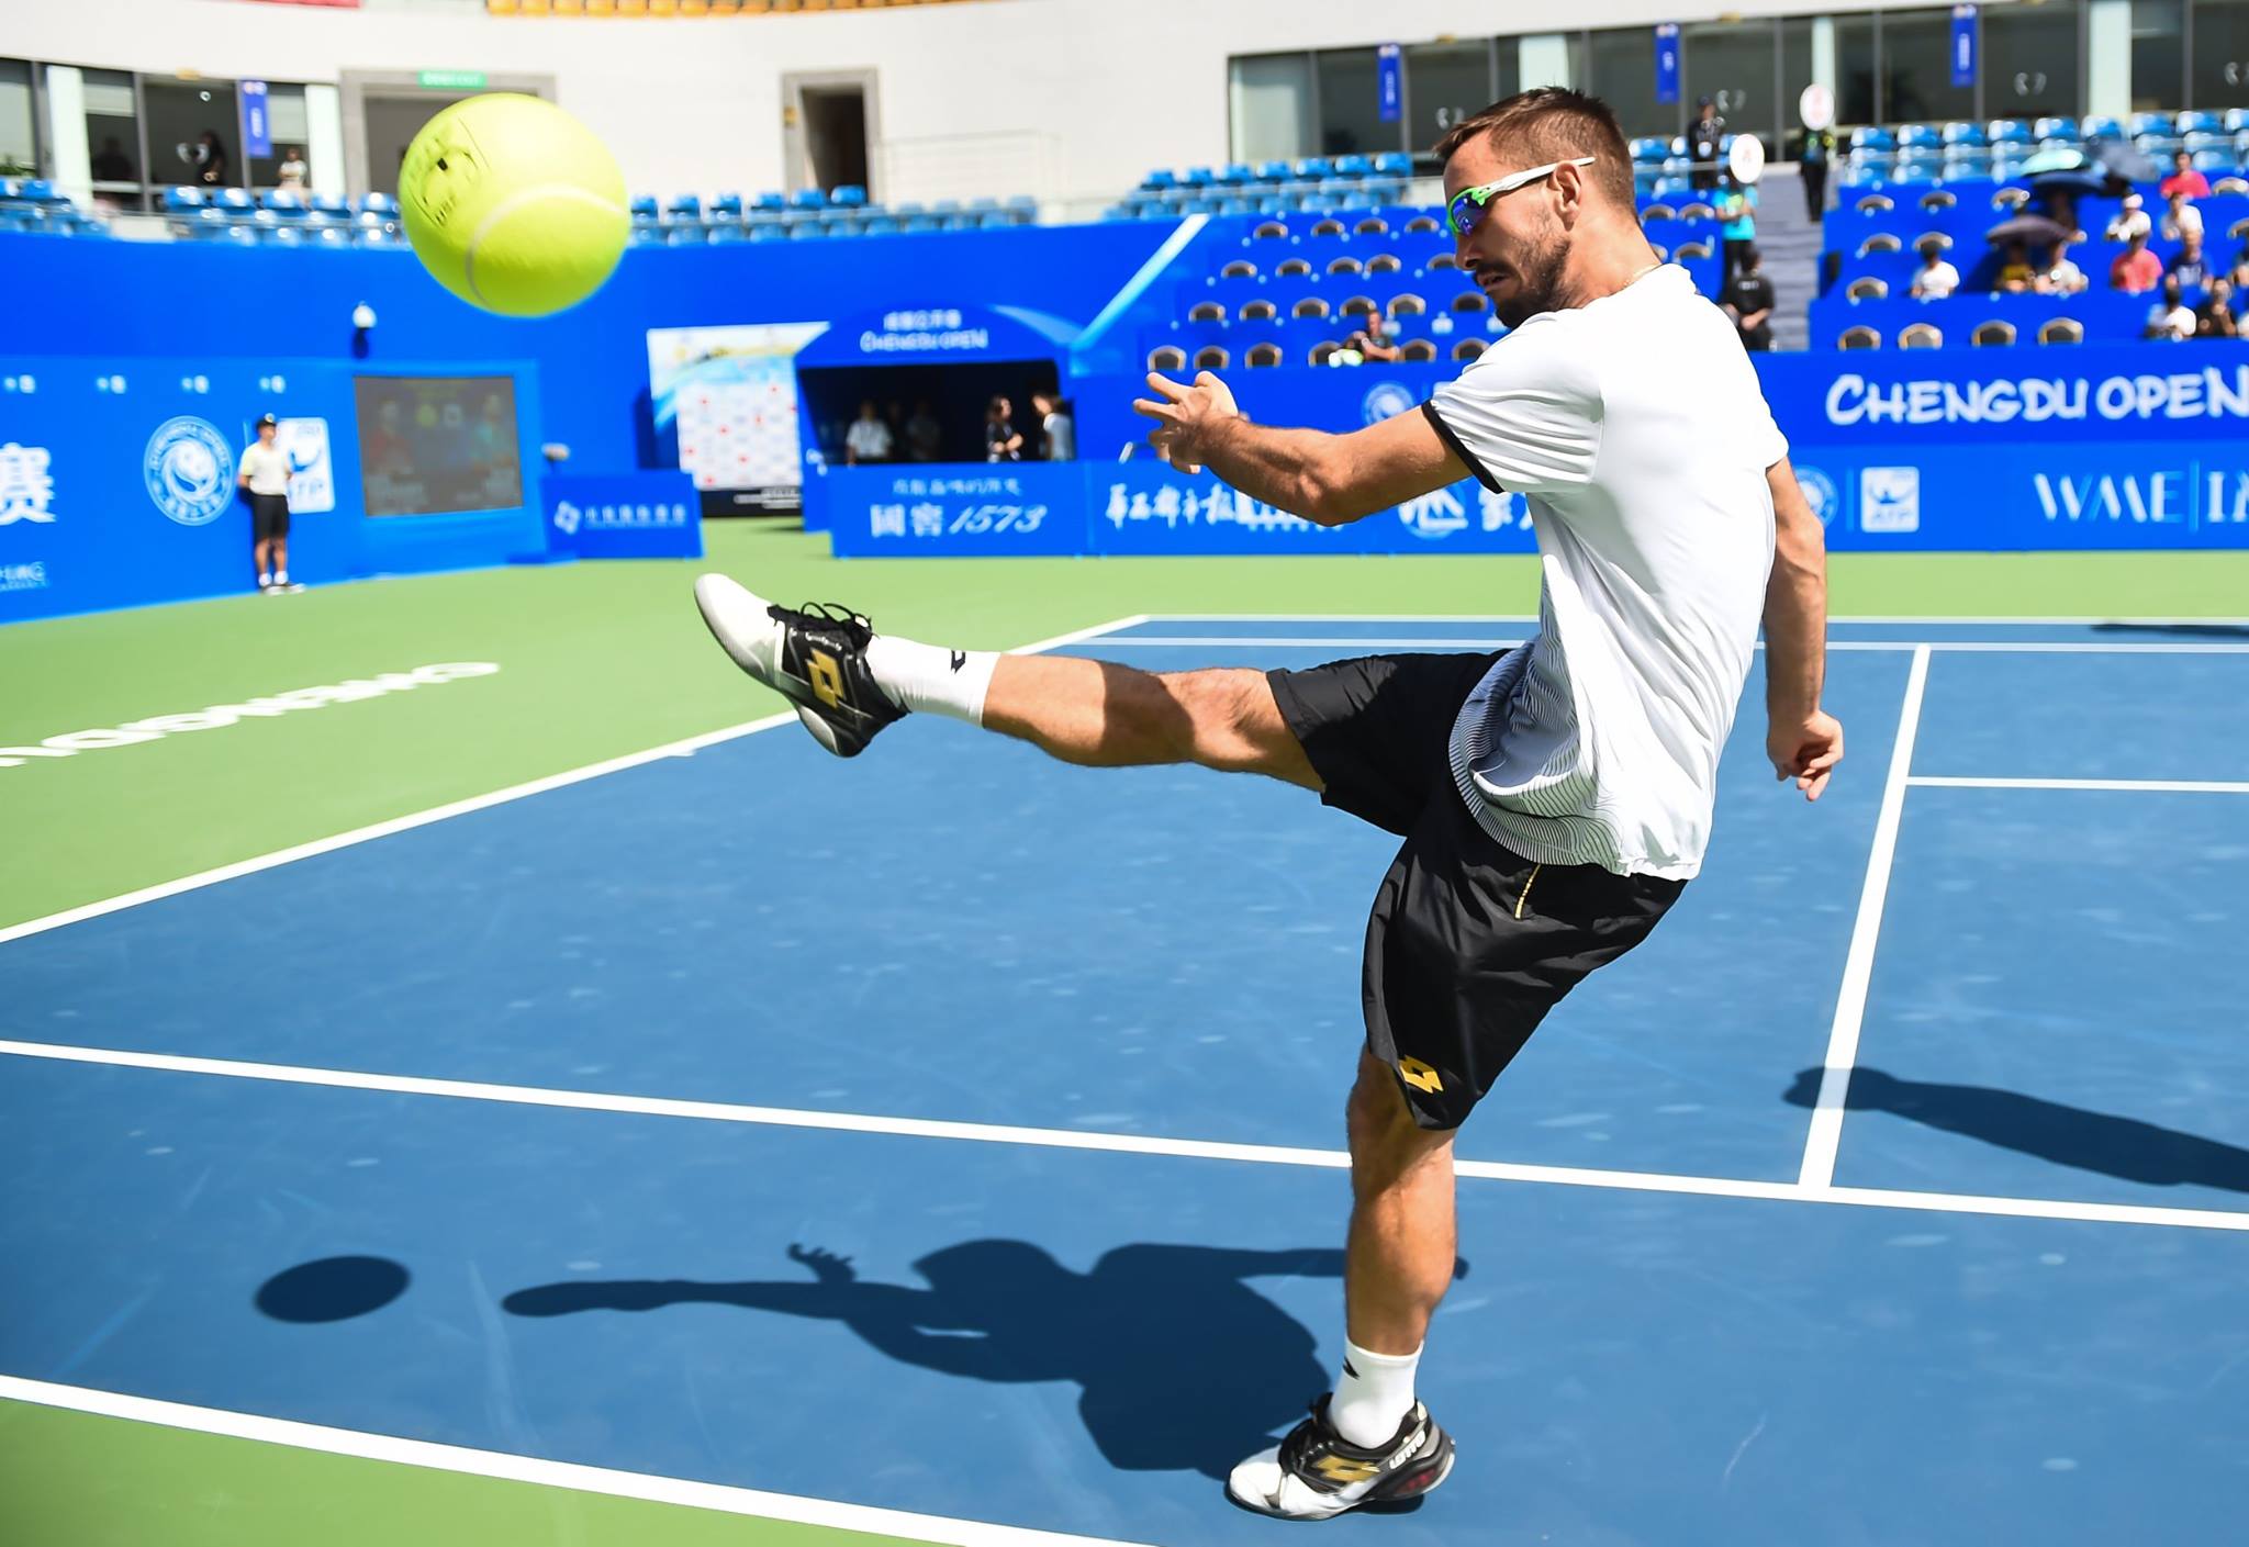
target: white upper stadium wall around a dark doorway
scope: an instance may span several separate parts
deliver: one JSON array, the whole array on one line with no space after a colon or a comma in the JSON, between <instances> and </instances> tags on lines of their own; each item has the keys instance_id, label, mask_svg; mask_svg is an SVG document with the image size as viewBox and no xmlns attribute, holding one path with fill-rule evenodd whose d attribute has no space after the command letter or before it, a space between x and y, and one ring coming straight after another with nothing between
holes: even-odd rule
<instances>
[{"instance_id":1,"label":"white upper stadium wall around a dark doorway","mask_svg":"<svg viewBox=\"0 0 2249 1547\"><path fill-rule=\"evenodd\" d=\"M1790 9L1860 9L1804 4ZM1781 7L1774 7L1781 9ZM1655 0L1586 0L1572 27L1687 20ZM245 4L241 0L0 0L0 56L169 74L335 81L344 70L549 74L564 108L641 191L785 187L780 74L875 70L882 135L906 171L1001 137L990 193L1098 205L1149 166L1226 160L1226 61L1304 47L1552 29L1518 0L983 0L884 11L591 20L477 11ZM1381 31L1383 36L1376 36ZM873 148L879 157L879 148ZM1026 166L1044 187L1021 187ZM933 175L933 173L931 173ZM956 191L954 187L940 189ZM886 198L924 198L886 187Z\"/></svg>"}]
</instances>

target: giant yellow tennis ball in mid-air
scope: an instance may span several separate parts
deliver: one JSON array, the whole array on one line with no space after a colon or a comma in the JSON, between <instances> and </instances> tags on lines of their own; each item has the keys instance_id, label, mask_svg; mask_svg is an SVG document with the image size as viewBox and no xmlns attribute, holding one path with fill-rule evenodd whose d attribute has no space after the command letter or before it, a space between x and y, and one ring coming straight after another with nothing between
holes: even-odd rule
<instances>
[{"instance_id":1,"label":"giant yellow tennis ball in mid-air","mask_svg":"<svg viewBox=\"0 0 2249 1547\"><path fill-rule=\"evenodd\" d=\"M551 101L490 92L423 124L398 169L423 268L463 301L544 317L600 290L625 252L625 175Z\"/></svg>"}]
</instances>

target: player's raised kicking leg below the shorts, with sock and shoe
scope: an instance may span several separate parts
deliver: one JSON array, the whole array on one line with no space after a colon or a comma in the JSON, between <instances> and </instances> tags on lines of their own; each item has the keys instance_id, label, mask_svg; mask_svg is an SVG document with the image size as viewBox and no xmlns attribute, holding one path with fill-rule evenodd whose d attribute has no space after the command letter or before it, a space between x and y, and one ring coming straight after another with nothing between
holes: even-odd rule
<instances>
[{"instance_id":1,"label":"player's raised kicking leg below the shorts, with sock and shoe","mask_svg":"<svg viewBox=\"0 0 2249 1547\"><path fill-rule=\"evenodd\" d=\"M735 666L787 697L839 758L855 758L906 711L929 711L1086 767L1199 762L1320 787L1264 672L1156 675L920 645L877 634L843 607L776 607L726 576L697 580L695 605Z\"/></svg>"}]
</instances>

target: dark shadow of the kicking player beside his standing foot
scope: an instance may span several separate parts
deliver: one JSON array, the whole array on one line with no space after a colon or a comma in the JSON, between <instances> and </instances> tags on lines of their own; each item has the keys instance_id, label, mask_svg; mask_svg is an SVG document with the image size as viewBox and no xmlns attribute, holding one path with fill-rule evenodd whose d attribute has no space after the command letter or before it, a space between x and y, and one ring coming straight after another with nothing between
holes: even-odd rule
<instances>
[{"instance_id":1,"label":"dark shadow of the kicking player beside his standing foot","mask_svg":"<svg viewBox=\"0 0 2249 1547\"><path fill-rule=\"evenodd\" d=\"M1331 1383L1311 1333L1250 1279L1340 1277L1338 1250L1120 1246L1073 1273L1026 1241L963 1241L913 1264L929 1288L868 1284L819 1248L792 1246L789 1259L810 1282L580 1279L502 1304L515 1315L731 1304L841 1322L951 1376L1075 1381L1086 1432L1122 1471L1223 1477Z\"/></svg>"}]
</instances>

